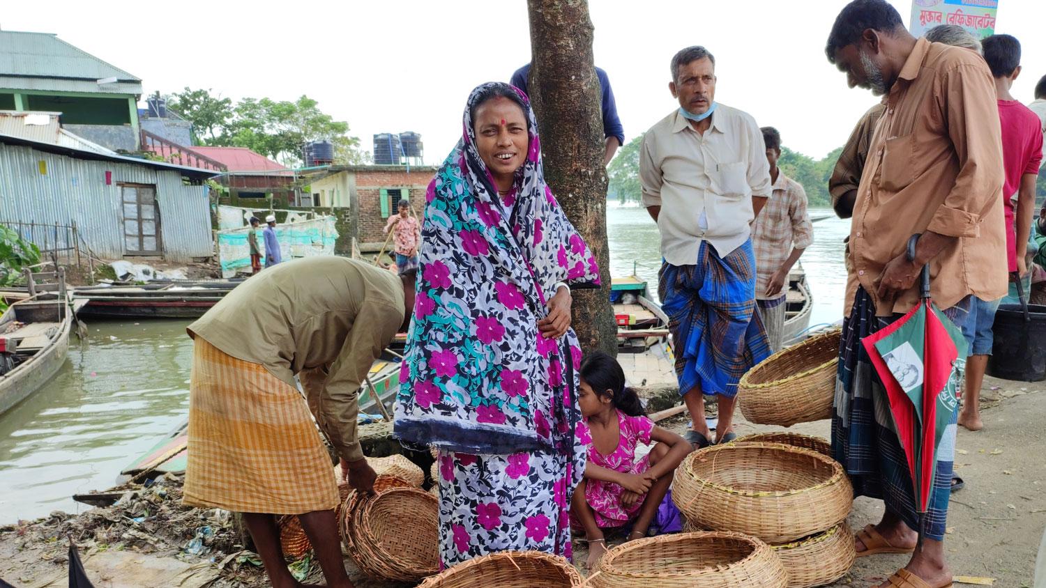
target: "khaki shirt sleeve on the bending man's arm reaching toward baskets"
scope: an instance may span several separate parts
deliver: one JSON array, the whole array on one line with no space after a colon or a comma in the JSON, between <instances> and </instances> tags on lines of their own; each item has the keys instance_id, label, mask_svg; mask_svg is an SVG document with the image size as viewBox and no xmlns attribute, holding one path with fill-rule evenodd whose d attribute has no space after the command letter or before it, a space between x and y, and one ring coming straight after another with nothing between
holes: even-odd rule
<instances>
[{"instance_id":1,"label":"khaki shirt sleeve on the bending man's arm reaching toward baskets","mask_svg":"<svg viewBox=\"0 0 1046 588\"><path fill-rule=\"evenodd\" d=\"M338 453L349 462L363 458L357 434L359 390L370 367L403 323L403 308L364 302L345 344L318 393L316 415ZM313 396L312 394L310 396Z\"/></svg>"}]
</instances>

